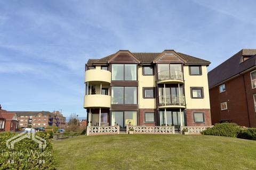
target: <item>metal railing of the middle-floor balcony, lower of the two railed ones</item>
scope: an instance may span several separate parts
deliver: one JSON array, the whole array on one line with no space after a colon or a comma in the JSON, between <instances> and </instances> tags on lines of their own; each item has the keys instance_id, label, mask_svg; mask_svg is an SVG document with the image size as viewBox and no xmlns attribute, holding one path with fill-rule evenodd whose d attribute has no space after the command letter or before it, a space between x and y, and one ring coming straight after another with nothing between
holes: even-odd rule
<instances>
[{"instance_id":1,"label":"metal railing of the middle-floor balcony, lower of the two railed ones","mask_svg":"<svg viewBox=\"0 0 256 170\"><path fill-rule=\"evenodd\" d=\"M185 106L185 96L184 95L166 95L159 96L159 106L165 105L181 105Z\"/></svg>"}]
</instances>

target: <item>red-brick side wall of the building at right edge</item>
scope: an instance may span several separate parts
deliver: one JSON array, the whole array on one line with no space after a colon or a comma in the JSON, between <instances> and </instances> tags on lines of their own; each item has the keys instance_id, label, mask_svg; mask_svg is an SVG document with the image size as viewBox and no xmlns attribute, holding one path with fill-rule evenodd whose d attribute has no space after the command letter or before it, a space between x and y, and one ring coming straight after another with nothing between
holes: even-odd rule
<instances>
[{"instance_id":1,"label":"red-brick side wall of the building at right edge","mask_svg":"<svg viewBox=\"0 0 256 170\"><path fill-rule=\"evenodd\" d=\"M225 86L226 91L222 93L219 92L219 86L210 89L212 123L230 120L238 125L256 127L253 101L253 94L256 94L256 89L252 89L250 72L245 73L244 78L243 75L239 75L225 82ZM226 101L228 109L221 111L220 103Z\"/></svg>"}]
</instances>

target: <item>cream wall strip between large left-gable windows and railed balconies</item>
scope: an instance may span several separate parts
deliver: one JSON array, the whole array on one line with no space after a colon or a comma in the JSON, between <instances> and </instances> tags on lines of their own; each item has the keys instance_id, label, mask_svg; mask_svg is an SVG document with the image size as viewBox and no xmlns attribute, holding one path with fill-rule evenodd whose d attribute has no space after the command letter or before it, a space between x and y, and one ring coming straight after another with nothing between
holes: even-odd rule
<instances>
[{"instance_id":1,"label":"cream wall strip between large left-gable windows and railed balconies","mask_svg":"<svg viewBox=\"0 0 256 170\"><path fill-rule=\"evenodd\" d=\"M142 87L156 87L155 75L142 75L142 66L138 70L138 100L139 108L156 108L156 99L143 99Z\"/></svg>"}]
</instances>

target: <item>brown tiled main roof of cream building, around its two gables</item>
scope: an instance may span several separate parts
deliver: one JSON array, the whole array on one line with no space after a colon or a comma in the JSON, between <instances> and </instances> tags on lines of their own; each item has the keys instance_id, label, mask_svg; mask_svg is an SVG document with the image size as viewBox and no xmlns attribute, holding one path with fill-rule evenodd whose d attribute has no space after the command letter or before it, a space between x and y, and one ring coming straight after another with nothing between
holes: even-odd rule
<instances>
[{"instance_id":1,"label":"brown tiled main roof of cream building, around its two gables","mask_svg":"<svg viewBox=\"0 0 256 170\"><path fill-rule=\"evenodd\" d=\"M173 50L173 52L175 51ZM142 64L150 64L150 63L153 63L153 61L162 53L131 53L131 54L134 55L136 58L138 58L138 60ZM181 58L183 58L183 60L187 64L206 64L206 65L210 64L209 61L202 60L201 58L193 57L193 56L183 54L183 53L178 53L178 52L175 52L175 53L177 53ZM87 62L87 65L90 66L93 64L107 64L110 58L113 57L115 54L111 54L100 59L89 59Z\"/></svg>"}]
</instances>

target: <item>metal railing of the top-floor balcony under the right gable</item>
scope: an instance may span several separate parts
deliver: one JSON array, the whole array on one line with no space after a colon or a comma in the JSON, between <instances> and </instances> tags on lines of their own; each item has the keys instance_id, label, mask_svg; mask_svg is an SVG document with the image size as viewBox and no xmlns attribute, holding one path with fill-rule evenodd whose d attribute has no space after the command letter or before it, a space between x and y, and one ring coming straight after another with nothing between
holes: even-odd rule
<instances>
[{"instance_id":1,"label":"metal railing of the top-floor balcony under the right gable","mask_svg":"<svg viewBox=\"0 0 256 170\"><path fill-rule=\"evenodd\" d=\"M183 73L180 70L165 70L158 72L158 81L161 80L181 80L183 81Z\"/></svg>"}]
</instances>

